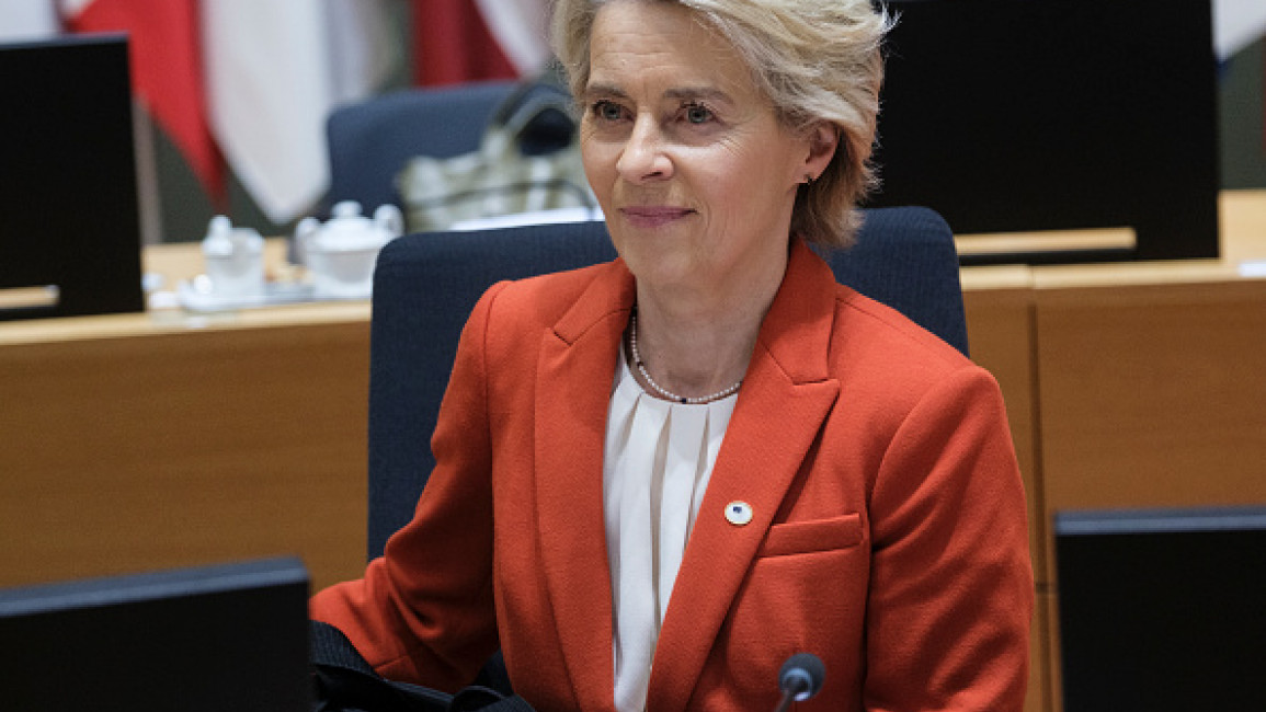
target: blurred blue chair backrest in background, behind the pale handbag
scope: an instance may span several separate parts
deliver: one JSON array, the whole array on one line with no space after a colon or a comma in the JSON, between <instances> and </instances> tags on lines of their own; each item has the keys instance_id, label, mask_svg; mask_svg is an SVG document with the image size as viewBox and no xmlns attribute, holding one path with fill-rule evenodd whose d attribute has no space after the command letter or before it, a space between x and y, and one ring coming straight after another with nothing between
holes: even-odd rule
<instances>
[{"instance_id":1,"label":"blurred blue chair backrest in background, behind the pale handbag","mask_svg":"<svg viewBox=\"0 0 1266 712\"><path fill-rule=\"evenodd\" d=\"M414 156L449 158L479 148L492 111L515 82L408 89L335 109L325 123L329 205L354 200L370 212L396 204L395 177Z\"/></svg>"}]
</instances>

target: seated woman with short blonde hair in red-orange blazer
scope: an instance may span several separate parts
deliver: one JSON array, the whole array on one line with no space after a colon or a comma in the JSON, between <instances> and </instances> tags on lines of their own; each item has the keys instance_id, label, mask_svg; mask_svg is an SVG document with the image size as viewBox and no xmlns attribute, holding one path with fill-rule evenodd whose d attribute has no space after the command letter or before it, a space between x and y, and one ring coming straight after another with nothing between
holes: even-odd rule
<instances>
[{"instance_id":1,"label":"seated woman with short blonde hair in red-orange blazer","mask_svg":"<svg viewBox=\"0 0 1266 712\"><path fill-rule=\"evenodd\" d=\"M620 259L463 331L414 521L313 599L442 689L499 646L541 709L1019 709L1024 494L996 384L804 244L846 244L868 0L561 0Z\"/></svg>"}]
</instances>

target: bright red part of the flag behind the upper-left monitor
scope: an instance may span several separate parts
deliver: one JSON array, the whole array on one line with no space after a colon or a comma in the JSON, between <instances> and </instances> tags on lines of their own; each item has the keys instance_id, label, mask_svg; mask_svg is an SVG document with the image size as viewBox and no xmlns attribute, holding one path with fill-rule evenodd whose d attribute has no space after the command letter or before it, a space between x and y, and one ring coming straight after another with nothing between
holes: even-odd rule
<instances>
[{"instance_id":1,"label":"bright red part of the flag behind the upper-left monitor","mask_svg":"<svg viewBox=\"0 0 1266 712\"><path fill-rule=\"evenodd\" d=\"M132 87L215 201L223 163L206 123L195 0L62 0L73 32L125 32Z\"/></svg>"}]
</instances>

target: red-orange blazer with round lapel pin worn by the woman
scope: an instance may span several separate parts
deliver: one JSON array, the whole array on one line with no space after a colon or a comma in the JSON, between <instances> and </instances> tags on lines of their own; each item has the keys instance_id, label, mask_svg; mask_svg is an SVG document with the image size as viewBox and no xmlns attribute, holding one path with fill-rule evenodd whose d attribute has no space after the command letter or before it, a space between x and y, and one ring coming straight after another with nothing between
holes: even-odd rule
<instances>
[{"instance_id":1,"label":"red-orange blazer with round lapel pin worn by the woman","mask_svg":"<svg viewBox=\"0 0 1266 712\"><path fill-rule=\"evenodd\" d=\"M462 334L411 524L311 601L382 674L453 691L498 646L542 711L613 709L603 441L620 261L492 287ZM728 503L751 505L730 524ZM660 632L647 709L1023 707L1033 579L994 379L796 242Z\"/></svg>"}]
</instances>

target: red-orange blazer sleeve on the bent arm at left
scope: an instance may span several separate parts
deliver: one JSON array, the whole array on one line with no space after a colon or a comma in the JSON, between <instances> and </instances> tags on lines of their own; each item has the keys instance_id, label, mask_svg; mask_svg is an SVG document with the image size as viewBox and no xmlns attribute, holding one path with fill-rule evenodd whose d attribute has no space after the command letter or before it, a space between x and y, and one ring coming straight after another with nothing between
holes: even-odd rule
<instances>
[{"instance_id":1,"label":"red-orange blazer sleeve on the bent arm at left","mask_svg":"<svg viewBox=\"0 0 1266 712\"><path fill-rule=\"evenodd\" d=\"M456 692L498 648L492 601L491 440L485 340L492 287L458 341L414 519L360 580L314 596L314 620L343 631L386 678Z\"/></svg>"}]
</instances>

